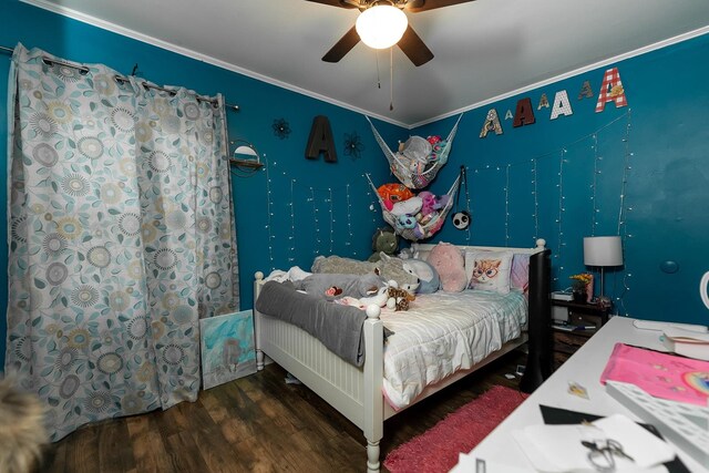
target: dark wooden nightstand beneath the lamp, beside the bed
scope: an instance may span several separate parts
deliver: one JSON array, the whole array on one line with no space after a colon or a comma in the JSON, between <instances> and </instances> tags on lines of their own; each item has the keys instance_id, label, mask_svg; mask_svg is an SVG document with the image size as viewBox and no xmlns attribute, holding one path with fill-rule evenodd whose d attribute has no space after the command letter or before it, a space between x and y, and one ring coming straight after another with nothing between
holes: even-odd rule
<instances>
[{"instance_id":1,"label":"dark wooden nightstand beneath the lamp, beside the bed","mask_svg":"<svg viewBox=\"0 0 709 473\"><path fill-rule=\"evenodd\" d=\"M552 306L565 307L568 321L564 327L552 325L554 370L564 363L608 321L608 307L597 304L552 299Z\"/></svg>"}]
</instances>

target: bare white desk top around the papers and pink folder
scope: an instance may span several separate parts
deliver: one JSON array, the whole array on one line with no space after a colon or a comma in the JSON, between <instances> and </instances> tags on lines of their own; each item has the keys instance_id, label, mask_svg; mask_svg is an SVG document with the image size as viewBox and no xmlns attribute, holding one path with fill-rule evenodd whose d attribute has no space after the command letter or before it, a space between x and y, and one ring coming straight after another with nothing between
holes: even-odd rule
<instances>
[{"instance_id":1,"label":"bare white desk top around the papers and pink folder","mask_svg":"<svg viewBox=\"0 0 709 473\"><path fill-rule=\"evenodd\" d=\"M665 351L659 340L659 331L636 329L633 321L634 319L630 318L613 317L507 419L477 444L471 451L470 456L485 460L490 466L487 466L487 473L512 471L513 467L518 471L533 471L526 456L512 438L512 432L526 425L543 424L540 404L597 415L623 413L641 422L641 419L638 419L637 415L607 394L605 387L599 381L600 373L617 342ZM575 381L586 388L588 399L569 394L567 392L569 381ZM681 450L676 450L691 472L709 472L709 464L701 465ZM474 464L474 460L469 464ZM495 465L502 467L495 469ZM462 470L456 467L453 472L458 473Z\"/></svg>"}]
</instances>

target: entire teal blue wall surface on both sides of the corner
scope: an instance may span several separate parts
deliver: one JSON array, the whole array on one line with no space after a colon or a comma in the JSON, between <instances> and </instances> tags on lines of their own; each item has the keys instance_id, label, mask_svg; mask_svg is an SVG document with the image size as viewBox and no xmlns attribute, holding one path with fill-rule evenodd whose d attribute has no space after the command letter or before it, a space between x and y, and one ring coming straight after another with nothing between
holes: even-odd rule
<instances>
[{"instance_id":1,"label":"entire teal blue wall surface on both sides of the corner","mask_svg":"<svg viewBox=\"0 0 709 473\"><path fill-rule=\"evenodd\" d=\"M373 173L377 184L393 179L362 115L14 0L0 0L0 45L17 42L72 61L101 62L124 74L137 63L141 75L155 83L184 85L207 95L222 92L228 102L240 105L239 113L229 112L230 137L245 138L266 155L270 178L268 183L266 172L234 178L243 308L251 307L251 275L256 270L292 265L307 268L316 253L330 253L330 241L332 253L369 255L371 233L381 219L378 212L370 210L374 200L362 174ZM625 207L631 210L624 210L627 218L621 225L626 266L607 271L606 294L620 298L617 307L621 313L706 323L709 312L700 302L697 287L701 274L709 270L709 128L703 123L709 105L709 89L703 81L709 72L707 56L709 37L705 35L612 64L619 68L628 107L607 104L603 113L594 112L606 69L602 68L466 112L449 164L432 191L448 189L464 164L470 169L473 226L469 237L448 223L433 240L528 247L534 237L543 237L555 255L554 284L566 287L569 275L586 269L583 236L592 229L596 235L618 230L624 163L629 158ZM7 76L9 63L0 56L0 76ZM594 97L578 101L586 80ZM536 105L542 93L551 102L559 90L567 91L574 114L549 121L551 107L537 111ZM6 94L7 82L0 81L0 96ZM517 101L526 96L532 99L536 123L513 128L512 121L504 120L505 112L514 113ZM491 107L497 110L504 133L481 140L479 134ZM332 125L337 164L304 157L312 119L320 114ZM0 100L0 136L7 135L6 116L7 104ZM281 117L291 128L287 140L279 140L271 130L274 120ZM445 135L454 120L445 119L411 133ZM390 144L410 133L386 123L377 126ZM351 133L359 134L364 146L359 160L345 155L345 134ZM597 151L592 147L594 133ZM559 155L564 148L559 195ZM0 157L7 160L4 145ZM533 161L537 164L536 207ZM598 212L594 226L590 197L595 163L600 173L596 174ZM6 169L1 173L0 181L4 182ZM0 188L6 193L4 185ZM315 208L309 200L311 188ZM329 189L336 220L332 226ZM266 228L268 202L273 214L270 237ZM559 202L565 208L561 225L556 222ZM295 244L291 203L297 226ZM7 232L6 207L0 212L0 225ZM351 236L348 219L352 223ZM662 273L660 264L666 260L677 261L679 271ZM0 267L6 266L7 250L2 250ZM0 300L7 300L7 273L2 271L0 278ZM4 330L6 320L0 317L0 333ZM0 353L4 356L3 337Z\"/></svg>"}]
</instances>

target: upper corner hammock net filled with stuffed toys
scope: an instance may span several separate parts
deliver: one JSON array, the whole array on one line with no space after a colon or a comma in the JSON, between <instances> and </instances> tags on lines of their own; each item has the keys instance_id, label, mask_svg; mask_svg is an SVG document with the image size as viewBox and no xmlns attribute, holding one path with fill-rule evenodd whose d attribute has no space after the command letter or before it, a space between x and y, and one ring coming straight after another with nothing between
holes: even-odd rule
<instances>
[{"instance_id":1,"label":"upper corner hammock net filled with stuffed toys","mask_svg":"<svg viewBox=\"0 0 709 473\"><path fill-rule=\"evenodd\" d=\"M448 162L451 144L462 116L463 114L461 113L445 140L431 143L421 136L411 136L403 144L403 148L397 152L392 152L389 148L372 121L369 120L369 116L367 121L372 128L377 143L379 143L381 151L387 156L389 167L394 176L407 187L420 189L431 184L439 169Z\"/></svg>"}]
</instances>

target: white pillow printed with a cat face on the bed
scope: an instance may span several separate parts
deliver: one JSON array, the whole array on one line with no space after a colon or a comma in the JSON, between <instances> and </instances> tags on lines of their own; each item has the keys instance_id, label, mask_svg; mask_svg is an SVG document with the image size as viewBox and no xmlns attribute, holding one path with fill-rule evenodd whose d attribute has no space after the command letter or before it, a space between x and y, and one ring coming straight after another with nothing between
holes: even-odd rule
<instances>
[{"instance_id":1,"label":"white pillow printed with a cat face on the bed","mask_svg":"<svg viewBox=\"0 0 709 473\"><path fill-rule=\"evenodd\" d=\"M513 256L512 251L466 250L467 287L508 294Z\"/></svg>"}]
</instances>

